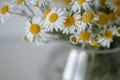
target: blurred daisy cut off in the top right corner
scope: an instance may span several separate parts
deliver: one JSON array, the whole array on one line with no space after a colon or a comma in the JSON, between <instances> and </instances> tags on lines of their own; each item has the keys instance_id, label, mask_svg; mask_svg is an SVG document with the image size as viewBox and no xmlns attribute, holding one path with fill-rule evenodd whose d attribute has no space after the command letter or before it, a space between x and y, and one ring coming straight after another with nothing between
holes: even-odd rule
<instances>
[{"instance_id":1,"label":"blurred daisy cut off in the top right corner","mask_svg":"<svg viewBox=\"0 0 120 80\"><path fill-rule=\"evenodd\" d=\"M120 6L120 0L106 0L106 4L111 10L115 10L118 6Z\"/></svg>"}]
</instances>

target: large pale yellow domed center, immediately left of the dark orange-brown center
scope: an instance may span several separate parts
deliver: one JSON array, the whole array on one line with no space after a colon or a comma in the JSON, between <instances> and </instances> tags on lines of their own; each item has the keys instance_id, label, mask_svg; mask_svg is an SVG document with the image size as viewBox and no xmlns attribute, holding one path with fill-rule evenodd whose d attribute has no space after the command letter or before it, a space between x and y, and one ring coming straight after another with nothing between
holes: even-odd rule
<instances>
[{"instance_id":1,"label":"large pale yellow domed center, immediately left of the dark orange-brown center","mask_svg":"<svg viewBox=\"0 0 120 80\"><path fill-rule=\"evenodd\" d=\"M82 16L82 21L85 23L89 23L93 20L94 15L91 12L86 12L85 14L83 14Z\"/></svg>"}]
</instances>

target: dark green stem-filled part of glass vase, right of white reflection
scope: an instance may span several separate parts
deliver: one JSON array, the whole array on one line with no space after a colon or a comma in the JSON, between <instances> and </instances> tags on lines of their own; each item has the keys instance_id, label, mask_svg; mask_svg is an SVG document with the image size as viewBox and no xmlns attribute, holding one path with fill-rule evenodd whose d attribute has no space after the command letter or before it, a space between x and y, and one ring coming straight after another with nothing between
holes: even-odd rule
<instances>
[{"instance_id":1,"label":"dark green stem-filled part of glass vase, right of white reflection","mask_svg":"<svg viewBox=\"0 0 120 80\"><path fill-rule=\"evenodd\" d=\"M120 80L120 47L89 54L87 80Z\"/></svg>"}]
</instances>

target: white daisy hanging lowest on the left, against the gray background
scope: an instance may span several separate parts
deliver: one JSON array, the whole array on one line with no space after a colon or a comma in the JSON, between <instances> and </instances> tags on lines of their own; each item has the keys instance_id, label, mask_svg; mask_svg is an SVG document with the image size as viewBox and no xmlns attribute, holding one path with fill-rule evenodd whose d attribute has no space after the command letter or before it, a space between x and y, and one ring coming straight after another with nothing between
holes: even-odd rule
<instances>
[{"instance_id":1,"label":"white daisy hanging lowest on the left, against the gray background","mask_svg":"<svg viewBox=\"0 0 120 80\"><path fill-rule=\"evenodd\" d=\"M43 29L43 21L40 17L33 17L32 20L28 21L27 27L25 28L27 40L39 44L39 41L45 39L45 30Z\"/></svg>"}]
</instances>

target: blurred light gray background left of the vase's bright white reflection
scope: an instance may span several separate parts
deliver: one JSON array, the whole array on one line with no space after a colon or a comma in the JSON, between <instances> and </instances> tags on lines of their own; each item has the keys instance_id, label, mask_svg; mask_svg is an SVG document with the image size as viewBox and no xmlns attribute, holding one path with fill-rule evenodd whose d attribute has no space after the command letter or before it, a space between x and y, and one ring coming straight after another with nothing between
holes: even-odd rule
<instances>
[{"instance_id":1,"label":"blurred light gray background left of the vase's bright white reflection","mask_svg":"<svg viewBox=\"0 0 120 80\"><path fill-rule=\"evenodd\" d=\"M0 23L0 80L61 80L67 46L36 46L22 40L25 20L18 16Z\"/></svg>"}]
</instances>

